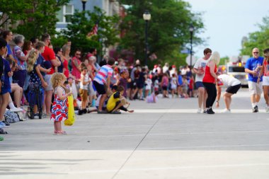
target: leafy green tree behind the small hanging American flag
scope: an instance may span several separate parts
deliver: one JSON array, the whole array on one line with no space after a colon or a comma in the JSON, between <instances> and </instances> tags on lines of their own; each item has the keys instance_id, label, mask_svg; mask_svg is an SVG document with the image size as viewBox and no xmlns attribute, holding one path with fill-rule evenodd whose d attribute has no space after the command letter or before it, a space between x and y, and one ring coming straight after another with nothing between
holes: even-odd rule
<instances>
[{"instance_id":1,"label":"leafy green tree behind the small hanging American flag","mask_svg":"<svg viewBox=\"0 0 269 179\"><path fill-rule=\"evenodd\" d=\"M101 8L95 7L92 12L76 11L74 16L70 17L70 22L67 30L62 30L60 36L70 39L72 46L81 48L83 52L88 52L89 48L96 48L101 52L103 47L108 48L119 42L118 16L105 16ZM86 37L96 23L98 23L97 35Z\"/></svg>"}]
</instances>

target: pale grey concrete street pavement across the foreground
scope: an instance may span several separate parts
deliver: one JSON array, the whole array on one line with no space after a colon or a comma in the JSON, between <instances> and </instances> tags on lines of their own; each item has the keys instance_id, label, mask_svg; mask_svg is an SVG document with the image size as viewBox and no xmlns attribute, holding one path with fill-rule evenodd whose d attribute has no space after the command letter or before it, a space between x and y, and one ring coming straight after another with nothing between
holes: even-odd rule
<instances>
[{"instance_id":1,"label":"pale grey concrete street pavement across the foreground","mask_svg":"<svg viewBox=\"0 0 269 179\"><path fill-rule=\"evenodd\" d=\"M0 178L268 179L269 115L246 88L231 114L195 113L197 98L132 101L135 112L77 117L67 136L48 119L17 122L0 142Z\"/></svg>"}]
</instances>

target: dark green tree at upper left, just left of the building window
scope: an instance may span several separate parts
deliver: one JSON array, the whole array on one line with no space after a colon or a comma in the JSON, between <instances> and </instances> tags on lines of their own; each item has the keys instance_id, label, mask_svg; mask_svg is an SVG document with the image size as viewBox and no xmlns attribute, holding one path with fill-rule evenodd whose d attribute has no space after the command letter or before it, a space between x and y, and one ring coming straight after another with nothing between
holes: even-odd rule
<instances>
[{"instance_id":1,"label":"dark green tree at upper left, just left of the building window","mask_svg":"<svg viewBox=\"0 0 269 179\"><path fill-rule=\"evenodd\" d=\"M70 0L26 0L28 6L23 9L25 16L21 16L21 24L13 31L30 37L40 37L43 33L55 35L56 23L58 21L56 14L60 7L67 4ZM11 6L9 4L9 6ZM17 13L17 12L16 12ZM20 13L17 13L20 14ZM18 19L17 19L18 20Z\"/></svg>"}]
</instances>

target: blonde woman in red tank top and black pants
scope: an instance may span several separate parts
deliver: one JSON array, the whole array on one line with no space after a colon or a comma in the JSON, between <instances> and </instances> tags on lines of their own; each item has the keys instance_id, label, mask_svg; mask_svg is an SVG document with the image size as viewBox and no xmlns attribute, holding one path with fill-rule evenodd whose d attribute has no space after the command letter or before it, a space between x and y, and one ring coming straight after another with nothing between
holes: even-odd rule
<instances>
[{"instance_id":1,"label":"blonde woman in red tank top and black pants","mask_svg":"<svg viewBox=\"0 0 269 179\"><path fill-rule=\"evenodd\" d=\"M202 83L205 86L205 90L207 91L207 101L206 101L206 109L205 113L214 114L212 110L212 106L214 104L214 100L217 97L217 64L219 64L219 52L213 52L208 63L205 67L205 76L202 79Z\"/></svg>"}]
</instances>

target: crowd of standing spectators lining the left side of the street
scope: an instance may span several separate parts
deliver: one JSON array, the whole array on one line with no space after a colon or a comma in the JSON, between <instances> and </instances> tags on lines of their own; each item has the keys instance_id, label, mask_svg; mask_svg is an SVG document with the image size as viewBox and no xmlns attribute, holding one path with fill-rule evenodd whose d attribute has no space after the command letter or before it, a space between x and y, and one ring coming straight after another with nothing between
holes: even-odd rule
<instances>
[{"instance_id":1,"label":"crowd of standing spectators lining the left side of the street","mask_svg":"<svg viewBox=\"0 0 269 179\"><path fill-rule=\"evenodd\" d=\"M139 59L135 64L130 64L125 59L115 60L107 55L98 63L96 49L81 52L70 41L62 47L53 47L49 34L42 35L40 39L33 37L25 40L23 35L13 35L11 30L5 30L1 32L1 38L6 42L1 57L9 64L5 70L8 70L6 75L11 86L4 98L8 101L7 105L4 104L4 110L20 112L26 110L24 106L34 105L33 118L40 117L38 102L33 102L31 98L34 97L29 95L31 86L37 84L42 96L42 117L50 116L54 98L50 79L55 72L67 77L80 115L88 112L86 108L96 103L99 105L98 113L104 112L103 107L111 95L112 86L123 87L125 104L130 104L127 102L130 100L145 100L147 96L158 93L162 93L164 98L169 98L169 93L172 98L195 95L193 74L188 66L177 69L175 65L166 63L164 67L156 64L154 69L149 69L142 66ZM74 54L70 54L71 48ZM5 80L4 74L2 79ZM103 98L98 98L101 95ZM0 128L8 127L4 114L0 117Z\"/></svg>"}]
</instances>

